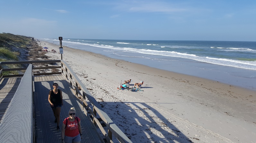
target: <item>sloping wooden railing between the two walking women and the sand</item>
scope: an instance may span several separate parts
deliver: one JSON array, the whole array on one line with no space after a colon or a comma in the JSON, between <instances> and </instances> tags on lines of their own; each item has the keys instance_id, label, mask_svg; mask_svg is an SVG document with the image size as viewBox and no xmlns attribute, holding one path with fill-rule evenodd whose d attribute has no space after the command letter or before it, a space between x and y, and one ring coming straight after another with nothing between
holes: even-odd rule
<instances>
[{"instance_id":1,"label":"sloping wooden railing between the two walking women and the sand","mask_svg":"<svg viewBox=\"0 0 256 143\"><path fill-rule=\"evenodd\" d=\"M109 141L112 141L112 136L110 136L111 134L113 134L121 143L132 143L130 139L128 139L128 137L117 127L116 124L113 123L113 121L110 119L110 117L107 115L107 113L102 109L101 105L95 100L95 98L93 98L93 96L91 95L91 93L87 90L87 88L84 86L84 84L81 82L81 80L76 76L76 74L73 72L73 70L68 66L68 64L64 61L61 60L61 63L63 65L65 65L66 70L66 78L68 77L67 74L69 72L70 74L70 78L74 78L75 80L75 85L74 86L79 86L81 88L81 91L83 92L84 97L82 101L83 103L86 105L86 101L85 101L85 97L90 101L90 103L93 105L93 109L91 109L91 114L93 116L93 119L97 119L96 117L96 112L98 113L98 115L101 117L101 119L104 121L104 123L107 125L108 128L108 134L105 134L105 137L108 136L109 137ZM68 78L67 78L68 79ZM73 82L72 79L69 79L70 82ZM78 88L78 87L77 87ZM87 104L88 105L88 104ZM86 106L87 108L90 108L88 106ZM86 112L86 110L84 109L84 111ZM94 112L93 112L94 111ZM96 111L96 112L95 112ZM98 119L97 119L98 120ZM94 124L95 121L93 121ZM99 122L98 122L99 123ZM101 124L97 124L98 126L101 126Z\"/></svg>"}]
</instances>

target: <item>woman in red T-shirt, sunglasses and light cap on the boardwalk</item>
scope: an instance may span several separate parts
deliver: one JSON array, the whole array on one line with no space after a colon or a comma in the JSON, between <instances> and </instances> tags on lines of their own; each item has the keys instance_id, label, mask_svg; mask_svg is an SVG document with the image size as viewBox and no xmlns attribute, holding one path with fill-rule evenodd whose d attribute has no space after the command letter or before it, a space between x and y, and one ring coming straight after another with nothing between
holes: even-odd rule
<instances>
[{"instance_id":1,"label":"woman in red T-shirt, sunglasses and light cap on the boardwalk","mask_svg":"<svg viewBox=\"0 0 256 143\"><path fill-rule=\"evenodd\" d=\"M62 124L61 141L62 143L80 143L82 136L81 121L75 117L75 108L70 108L69 117Z\"/></svg>"}]
</instances>

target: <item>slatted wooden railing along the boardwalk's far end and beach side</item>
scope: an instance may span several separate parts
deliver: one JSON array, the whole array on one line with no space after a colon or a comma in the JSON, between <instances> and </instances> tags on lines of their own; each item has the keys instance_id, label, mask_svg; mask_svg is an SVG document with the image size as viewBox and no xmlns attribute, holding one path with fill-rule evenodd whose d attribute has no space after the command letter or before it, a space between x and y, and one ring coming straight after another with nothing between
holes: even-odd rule
<instances>
[{"instance_id":1,"label":"slatted wooden railing along the boardwalk's far end and beach side","mask_svg":"<svg viewBox=\"0 0 256 143\"><path fill-rule=\"evenodd\" d=\"M45 67L32 67L32 70L40 69L61 69L61 72L45 72L45 73L34 73L34 76L37 75L53 75L53 74L63 74L66 77L66 80L69 81L72 89L75 88L74 94L77 98L81 98L84 113L87 118L91 121L94 130L97 133L101 142L104 142L102 136L105 139L112 143L112 137L115 137L121 143L131 143L130 139L118 128L116 124L110 119L107 113L102 109L101 105L93 98L92 94L87 90L81 80L76 76L73 70L64 60L45 60L45 61L13 61L13 62L0 62L0 81L4 77L15 77L23 76L22 74L18 75L2 75L4 71L18 71L25 70L26 68L16 68L16 69L2 69L3 64L39 64L39 63L60 63L61 66L45 66ZM74 88L73 88L74 87ZM80 88L80 89L79 89ZM88 104L90 102L90 105ZM88 113L89 112L89 113ZM90 115L92 117L90 117ZM103 128L102 124L98 120L97 115L102 119L106 125L106 130ZM100 129L101 132L98 132Z\"/></svg>"}]
</instances>

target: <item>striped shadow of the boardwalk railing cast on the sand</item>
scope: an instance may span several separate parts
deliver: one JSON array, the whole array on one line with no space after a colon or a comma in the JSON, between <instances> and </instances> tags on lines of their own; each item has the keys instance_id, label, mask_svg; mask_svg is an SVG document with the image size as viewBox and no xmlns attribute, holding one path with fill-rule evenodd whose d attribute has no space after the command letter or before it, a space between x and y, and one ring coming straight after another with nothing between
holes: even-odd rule
<instances>
[{"instance_id":1,"label":"striped shadow of the boardwalk railing cast on the sand","mask_svg":"<svg viewBox=\"0 0 256 143\"><path fill-rule=\"evenodd\" d=\"M108 105L106 106L106 104ZM160 112L147 103L100 102L100 105L108 112L119 128L134 143L193 142L190 140L190 138L183 134L181 130L174 126L169 121L170 119L166 119ZM106 109L106 107L110 108ZM138 112L138 110L140 112ZM171 132L168 132L167 130ZM135 138L137 136L140 136L141 138Z\"/></svg>"}]
</instances>

